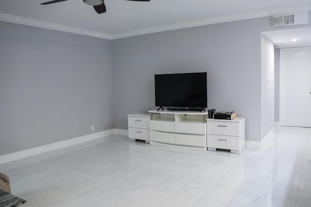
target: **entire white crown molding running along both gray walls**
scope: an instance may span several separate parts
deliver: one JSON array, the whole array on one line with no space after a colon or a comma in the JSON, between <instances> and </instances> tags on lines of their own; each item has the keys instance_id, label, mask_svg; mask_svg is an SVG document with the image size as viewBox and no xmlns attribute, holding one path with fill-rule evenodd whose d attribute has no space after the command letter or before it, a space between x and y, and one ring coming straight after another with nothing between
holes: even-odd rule
<instances>
[{"instance_id":1,"label":"entire white crown molding running along both gray walls","mask_svg":"<svg viewBox=\"0 0 311 207\"><path fill-rule=\"evenodd\" d=\"M75 34L91 36L91 37L98 37L102 39L113 40L113 39L132 37L132 36L137 36L137 35L142 35L142 34L165 32L165 31L179 30L179 29L198 27L198 26L204 26L204 25L210 25L210 24L225 23L225 22L231 22L231 21L239 21L239 20L259 18L259 17L264 17L264 16L281 15L281 14L303 12L303 11L311 11L311 3L299 5L299 6L291 7L291 8L279 8L279 9L272 9L272 10L264 10L264 11L260 11L256 13L245 13L242 15L199 19L199 20L186 21L186 22L174 23L174 24L166 24L166 25L160 25L156 27L144 28L144 29L128 31L128 32L113 33L113 34L84 30L80 28L69 27L65 25L59 25L59 24L54 24L54 23L49 23L49 22L44 22L44 21L39 21L39 20L33 20L33 19L23 18L19 16L12 16L12 15L7 15L3 13L0 13L0 20L33 26L33 27L40 27L40 28L45 28L45 29L50 29L50 30L70 32L70 33L75 33Z\"/></svg>"}]
</instances>

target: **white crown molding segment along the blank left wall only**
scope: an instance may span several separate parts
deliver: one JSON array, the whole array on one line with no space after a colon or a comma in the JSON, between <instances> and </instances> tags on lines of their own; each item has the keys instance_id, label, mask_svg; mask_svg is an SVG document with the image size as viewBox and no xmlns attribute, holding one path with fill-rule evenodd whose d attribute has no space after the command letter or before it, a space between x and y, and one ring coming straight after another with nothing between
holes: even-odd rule
<instances>
[{"instance_id":1,"label":"white crown molding segment along the blank left wall only","mask_svg":"<svg viewBox=\"0 0 311 207\"><path fill-rule=\"evenodd\" d=\"M90 31L90 30L84 30L84 29L80 29L80 28L69 27L69 26L65 26L65 25L54 24L54 23L49 23L49 22L44 22L44 21L38 21L38 20L28 19L28 18L19 17L19 16L12 16L12 15L7 15L7 14L3 14L3 13L0 13L0 20L6 21L6 22L12 22L12 23L16 23L16 24L45 28L45 29L50 29L50 30L57 30L57 31L62 31L62 32L82 34L82 35L91 36L91 37L98 37L98 38L102 38L102 39L108 39L108 40L112 39L111 34L106 34L106 33L102 33L102 32L95 32L95 31Z\"/></svg>"}]
</instances>

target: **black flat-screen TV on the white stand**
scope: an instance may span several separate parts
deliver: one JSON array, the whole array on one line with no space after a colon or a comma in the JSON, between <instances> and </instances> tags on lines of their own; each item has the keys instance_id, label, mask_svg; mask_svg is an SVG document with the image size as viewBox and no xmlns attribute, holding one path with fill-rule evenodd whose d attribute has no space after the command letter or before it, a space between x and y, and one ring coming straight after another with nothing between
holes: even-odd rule
<instances>
[{"instance_id":1,"label":"black flat-screen TV on the white stand","mask_svg":"<svg viewBox=\"0 0 311 207\"><path fill-rule=\"evenodd\" d=\"M155 106L207 108L207 73L155 75Z\"/></svg>"}]
</instances>

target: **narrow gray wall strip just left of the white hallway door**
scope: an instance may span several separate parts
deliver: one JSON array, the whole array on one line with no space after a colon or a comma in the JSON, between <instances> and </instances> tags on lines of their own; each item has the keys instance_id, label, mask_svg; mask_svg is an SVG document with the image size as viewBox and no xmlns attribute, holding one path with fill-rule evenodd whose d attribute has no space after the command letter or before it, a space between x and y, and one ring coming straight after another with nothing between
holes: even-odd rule
<instances>
[{"instance_id":1,"label":"narrow gray wall strip just left of the white hallway door","mask_svg":"<svg viewBox=\"0 0 311 207\"><path fill-rule=\"evenodd\" d=\"M280 49L274 50L274 77L275 77L275 108L274 108L274 121L280 120Z\"/></svg>"}]
</instances>

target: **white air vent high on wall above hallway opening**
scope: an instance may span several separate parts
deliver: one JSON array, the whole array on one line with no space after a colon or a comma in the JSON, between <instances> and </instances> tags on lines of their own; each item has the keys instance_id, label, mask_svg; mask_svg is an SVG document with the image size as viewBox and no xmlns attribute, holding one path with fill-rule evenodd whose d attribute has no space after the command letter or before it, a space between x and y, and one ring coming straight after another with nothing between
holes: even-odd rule
<instances>
[{"instance_id":1,"label":"white air vent high on wall above hallway opening","mask_svg":"<svg viewBox=\"0 0 311 207\"><path fill-rule=\"evenodd\" d=\"M291 26L308 24L308 12L271 16L271 26Z\"/></svg>"}]
</instances>

